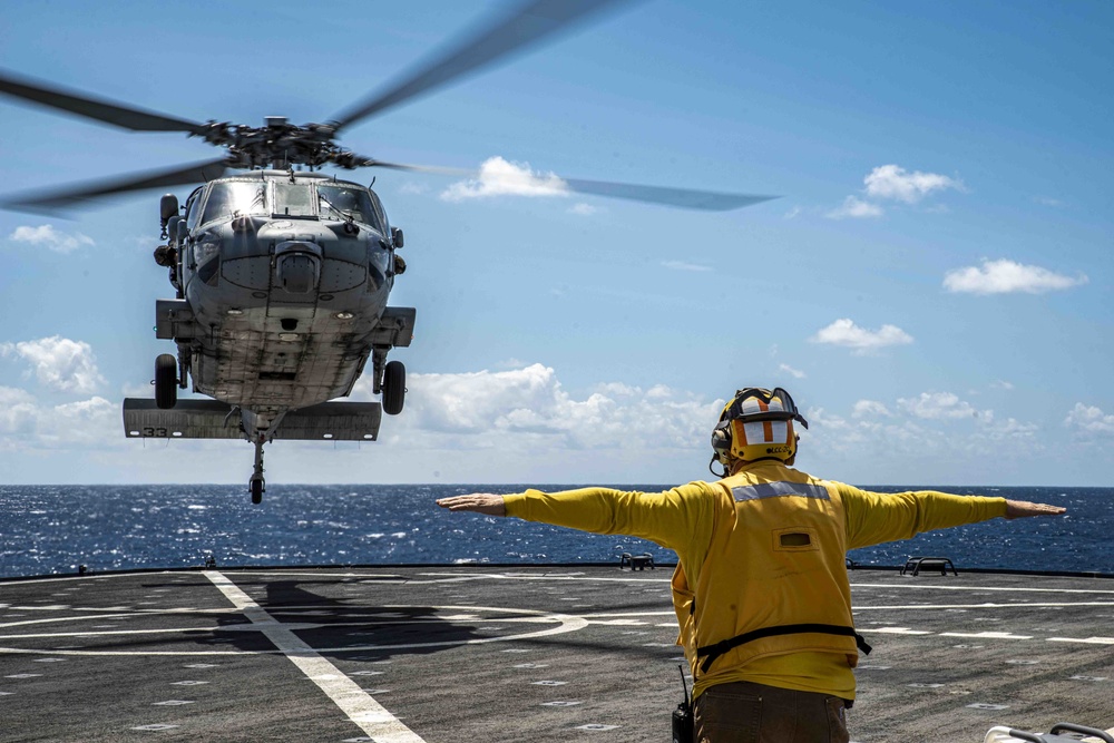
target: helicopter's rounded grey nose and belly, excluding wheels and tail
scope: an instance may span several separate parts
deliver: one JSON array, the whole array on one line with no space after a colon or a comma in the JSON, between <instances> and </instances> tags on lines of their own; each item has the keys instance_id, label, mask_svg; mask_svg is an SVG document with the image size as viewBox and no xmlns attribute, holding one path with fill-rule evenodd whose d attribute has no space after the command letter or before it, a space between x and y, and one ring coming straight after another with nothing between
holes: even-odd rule
<instances>
[{"instance_id":1,"label":"helicopter's rounded grey nose and belly, excluding wheels and tail","mask_svg":"<svg viewBox=\"0 0 1114 743\"><path fill-rule=\"evenodd\" d=\"M265 203L256 214L214 205L229 186ZM330 206L341 189L363 196L370 213ZM394 285L394 245L374 193L258 172L198 189L185 222L178 284L193 321L175 340L194 391L264 417L351 393L377 341L390 340L375 331Z\"/></svg>"}]
</instances>

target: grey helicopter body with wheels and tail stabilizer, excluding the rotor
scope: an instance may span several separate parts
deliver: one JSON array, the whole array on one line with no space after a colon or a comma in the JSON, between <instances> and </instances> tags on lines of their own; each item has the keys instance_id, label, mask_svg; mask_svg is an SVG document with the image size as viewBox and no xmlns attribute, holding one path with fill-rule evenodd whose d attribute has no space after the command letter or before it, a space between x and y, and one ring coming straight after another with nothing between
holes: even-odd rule
<instances>
[{"instance_id":1,"label":"grey helicopter body with wheels and tail stabilizer, excluding the rotor","mask_svg":"<svg viewBox=\"0 0 1114 743\"><path fill-rule=\"evenodd\" d=\"M155 405L125 401L128 436L245 438L261 479L272 439L374 440L382 410L402 408L404 369L387 354L410 344L416 314L388 306L405 264L378 195L257 170L197 188L180 216L165 196L163 212L156 262L177 296L157 301L155 331L177 344L177 369L173 356L156 363ZM369 360L382 409L329 403L352 392ZM188 380L215 402L177 401Z\"/></svg>"}]
</instances>

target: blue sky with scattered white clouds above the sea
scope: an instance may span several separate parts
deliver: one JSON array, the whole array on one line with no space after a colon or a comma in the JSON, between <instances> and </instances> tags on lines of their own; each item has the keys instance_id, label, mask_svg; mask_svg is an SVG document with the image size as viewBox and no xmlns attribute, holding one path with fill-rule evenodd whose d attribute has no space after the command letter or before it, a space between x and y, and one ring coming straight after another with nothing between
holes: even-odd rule
<instances>
[{"instance_id":1,"label":"blue sky with scattered white clouds above the sea","mask_svg":"<svg viewBox=\"0 0 1114 743\"><path fill-rule=\"evenodd\" d=\"M13 3L0 68L322 121L505 9ZM781 385L818 477L1108 487L1111 80L1108 2L646 0L362 121L342 145L517 178L356 174L405 233L405 409L373 443L270 444L267 481L712 479L725 400ZM9 98L0 121L0 197L218 155ZM561 178L778 198L683 211ZM124 437L174 352L159 195L0 211L0 483L246 483L246 441Z\"/></svg>"}]
</instances>

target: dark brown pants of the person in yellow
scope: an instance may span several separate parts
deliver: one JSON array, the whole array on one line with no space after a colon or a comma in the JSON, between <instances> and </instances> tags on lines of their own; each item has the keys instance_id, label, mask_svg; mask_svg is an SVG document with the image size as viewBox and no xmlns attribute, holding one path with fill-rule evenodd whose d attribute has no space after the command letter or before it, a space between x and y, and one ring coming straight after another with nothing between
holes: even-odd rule
<instances>
[{"instance_id":1,"label":"dark brown pants of the person in yellow","mask_svg":"<svg viewBox=\"0 0 1114 743\"><path fill-rule=\"evenodd\" d=\"M719 684L696 700L698 743L848 743L838 696L763 684Z\"/></svg>"}]
</instances>

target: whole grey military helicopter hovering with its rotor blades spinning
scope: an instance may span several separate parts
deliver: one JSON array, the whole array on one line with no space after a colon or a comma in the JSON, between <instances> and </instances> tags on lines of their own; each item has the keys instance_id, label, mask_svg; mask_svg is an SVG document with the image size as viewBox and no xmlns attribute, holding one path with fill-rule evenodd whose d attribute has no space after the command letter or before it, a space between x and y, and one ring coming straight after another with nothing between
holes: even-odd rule
<instances>
[{"instance_id":1,"label":"whole grey military helicopter hovering with its rotor blades spinning","mask_svg":"<svg viewBox=\"0 0 1114 743\"><path fill-rule=\"evenodd\" d=\"M389 304L405 271L402 229L372 187L322 168L470 174L389 163L336 144L339 135L407 100L551 39L626 0L531 0L462 36L323 123L263 126L192 121L0 70L0 94L130 131L184 133L226 151L218 158L17 195L14 211L55 213L131 192L196 186L159 202L155 262L173 299L155 306L157 339L177 353L155 360L154 398L124 400L124 429L139 439L246 439L254 444L252 502L266 490L273 440L374 441L382 414L398 416L405 366L388 361L413 338L417 310ZM373 185L374 182L372 182ZM583 194L682 208L726 211L771 196L563 179ZM348 397L368 364L379 402ZM209 399L178 399L178 391Z\"/></svg>"}]
</instances>

